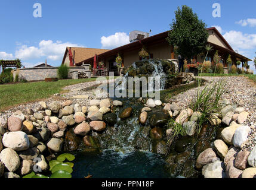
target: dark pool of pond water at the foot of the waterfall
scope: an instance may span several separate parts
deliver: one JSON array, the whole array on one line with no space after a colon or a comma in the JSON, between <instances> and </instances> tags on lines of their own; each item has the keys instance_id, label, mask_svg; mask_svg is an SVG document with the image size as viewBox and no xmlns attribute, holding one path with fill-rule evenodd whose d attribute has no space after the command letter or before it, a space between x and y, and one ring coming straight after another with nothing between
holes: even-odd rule
<instances>
[{"instance_id":1,"label":"dark pool of pond water at the foot of the waterfall","mask_svg":"<svg viewBox=\"0 0 256 190\"><path fill-rule=\"evenodd\" d=\"M72 178L169 178L162 156L143 151L121 153L104 150L103 153L76 153Z\"/></svg>"}]
</instances>

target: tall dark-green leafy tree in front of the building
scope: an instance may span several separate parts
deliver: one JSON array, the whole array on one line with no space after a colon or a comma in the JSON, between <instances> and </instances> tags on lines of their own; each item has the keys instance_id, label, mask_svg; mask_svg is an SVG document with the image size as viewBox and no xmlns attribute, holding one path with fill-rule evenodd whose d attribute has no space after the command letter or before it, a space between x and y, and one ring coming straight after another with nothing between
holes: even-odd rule
<instances>
[{"instance_id":1,"label":"tall dark-green leafy tree in front of the building","mask_svg":"<svg viewBox=\"0 0 256 190\"><path fill-rule=\"evenodd\" d=\"M175 11L175 20L172 20L170 27L167 40L175 47L175 53L190 61L192 56L205 52L209 34L206 31L206 24L199 20L192 8L186 5L183 5L182 9L178 7Z\"/></svg>"}]
</instances>

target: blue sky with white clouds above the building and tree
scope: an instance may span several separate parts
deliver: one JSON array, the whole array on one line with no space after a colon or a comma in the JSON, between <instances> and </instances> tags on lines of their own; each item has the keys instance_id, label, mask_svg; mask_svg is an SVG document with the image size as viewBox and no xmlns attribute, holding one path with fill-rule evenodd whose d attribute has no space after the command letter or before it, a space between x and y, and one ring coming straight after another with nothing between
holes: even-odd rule
<instances>
[{"instance_id":1,"label":"blue sky with white clouds above the building and tree","mask_svg":"<svg viewBox=\"0 0 256 190\"><path fill-rule=\"evenodd\" d=\"M42 18L33 17L36 3ZM221 5L220 18L212 17L214 3ZM181 5L192 7L208 27L216 26L234 50L254 58L255 0L0 0L0 59L20 58L26 67L47 59L59 66L66 46L111 49L128 43L132 30L152 30L150 35L169 30Z\"/></svg>"}]
</instances>

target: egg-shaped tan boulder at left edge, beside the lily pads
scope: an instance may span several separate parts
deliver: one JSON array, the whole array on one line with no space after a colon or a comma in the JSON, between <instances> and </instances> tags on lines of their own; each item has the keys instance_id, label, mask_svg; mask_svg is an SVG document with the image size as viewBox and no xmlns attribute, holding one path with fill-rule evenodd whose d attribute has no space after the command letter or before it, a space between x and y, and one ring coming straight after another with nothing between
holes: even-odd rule
<instances>
[{"instance_id":1,"label":"egg-shaped tan boulder at left edge, beside the lily pads","mask_svg":"<svg viewBox=\"0 0 256 190\"><path fill-rule=\"evenodd\" d=\"M5 148L0 153L0 160L9 172L15 172L20 166L20 157L11 148Z\"/></svg>"}]
</instances>

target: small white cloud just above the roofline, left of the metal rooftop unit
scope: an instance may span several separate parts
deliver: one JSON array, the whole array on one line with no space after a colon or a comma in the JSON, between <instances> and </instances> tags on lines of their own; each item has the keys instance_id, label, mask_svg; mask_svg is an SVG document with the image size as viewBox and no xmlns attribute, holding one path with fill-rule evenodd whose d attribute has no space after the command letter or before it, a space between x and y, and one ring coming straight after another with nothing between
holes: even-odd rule
<instances>
[{"instance_id":1,"label":"small white cloud just above the roofline, left of the metal rooftop unit","mask_svg":"<svg viewBox=\"0 0 256 190\"><path fill-rule=\"evenodd\" d=\"M115 35L101 37L102 48L113 49L129 43L129 36L124 32L117 32Z\"/></svg>"}]
</instances>

